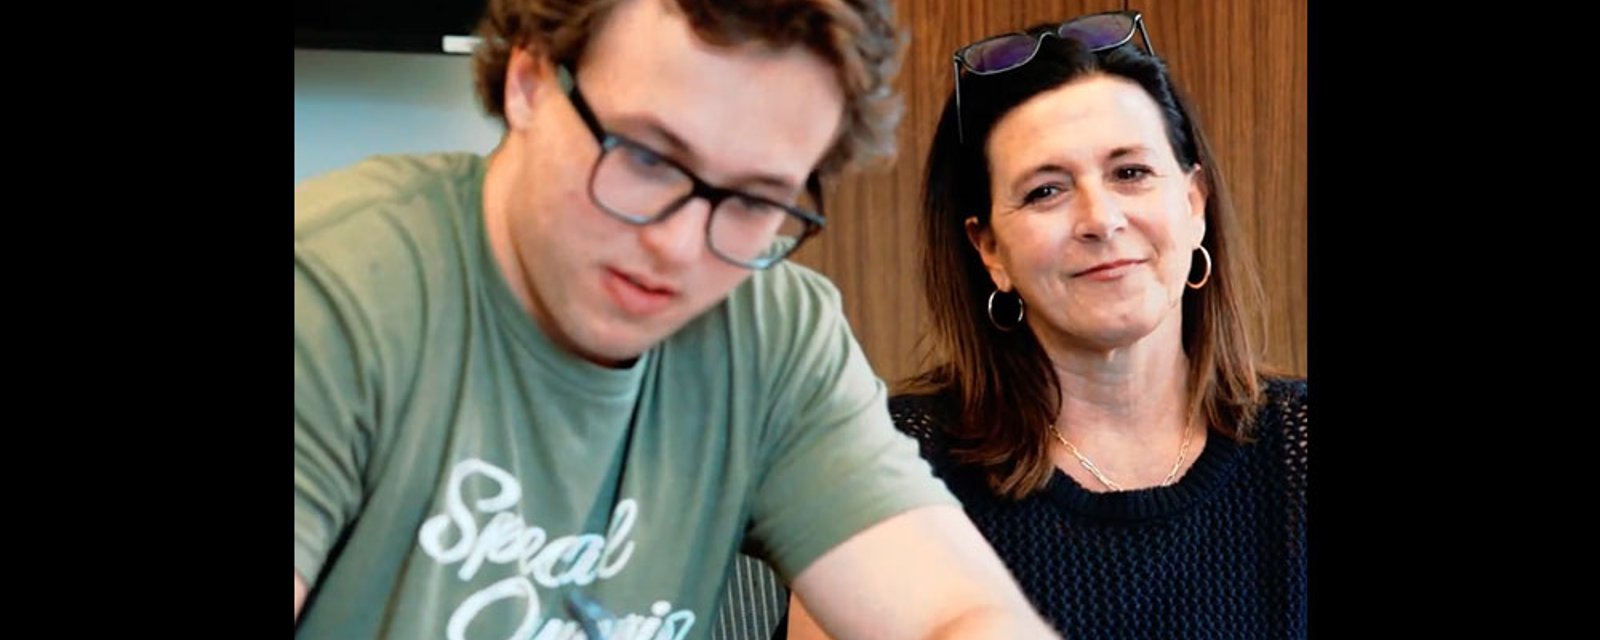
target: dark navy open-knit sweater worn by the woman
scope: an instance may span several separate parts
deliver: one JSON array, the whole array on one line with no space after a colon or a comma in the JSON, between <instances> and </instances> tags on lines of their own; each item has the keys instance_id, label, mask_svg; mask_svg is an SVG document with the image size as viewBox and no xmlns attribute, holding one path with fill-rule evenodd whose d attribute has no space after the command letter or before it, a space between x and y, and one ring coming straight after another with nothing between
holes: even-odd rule
<instances>
[{"instance_id":1,"label":"dark navy open-knit sweater worn by the woman","mask_svg":"<svg viewBox=\"0 0 1600 640\"><path fill-rule=\"evenodd\" d=\"M1090 493L1058 469L1016 502L950 462L947 400L890 410L1066 637L1304 638L1306 381L1274 379L1267 397L1256 440L1211 434L1171 486Z\"/></svg>"}]
</instances>

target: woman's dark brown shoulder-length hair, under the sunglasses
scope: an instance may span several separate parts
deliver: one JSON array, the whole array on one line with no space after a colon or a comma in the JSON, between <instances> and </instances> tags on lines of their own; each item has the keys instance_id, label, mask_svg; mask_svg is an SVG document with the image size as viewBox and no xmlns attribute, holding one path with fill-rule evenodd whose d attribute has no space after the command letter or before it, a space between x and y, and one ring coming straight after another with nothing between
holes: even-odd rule
<instances>
[{"instance_id":1,"label":"woman's dark brown shoulder-length hair, under the sunglasses","mask_svg":"<svg viewBox=\"0 0 1600 640\"><path fill-rule=\"evenodd\" d=\"M1048 29L1037 26L1030 32ZM965 219L989 224L989 160L994 125L1032 96L1072 80L1107 74L1136 82L1160 106L1166 138L1181 166L1203 166L1206 234L1213 272L1182 299L1182 346L1189 355L1189 411L1214 432L1245 442L1262 402L1251 331L1259 331L1261 285L1238 235L1222 170L1211 154L1194 110L1166 66L1136 46L1090 53L1067 38L1046 37L1037 58L997 75L963 75L962 109L954 94L928 152L923 190L923 293L931 310L925 347L933 365L901 386L902 392L946 394L960 406L950 426L957 461L984 470L989 486L1024 498L1046 485L1051 426L1061 403L1061 381L1050 357L1024 325L1002 331L989 318L995 290ZM957 136L957 117L965 144ZM1195 261L1190 282L1203 275Z\"/></svg>"}]
</instances>

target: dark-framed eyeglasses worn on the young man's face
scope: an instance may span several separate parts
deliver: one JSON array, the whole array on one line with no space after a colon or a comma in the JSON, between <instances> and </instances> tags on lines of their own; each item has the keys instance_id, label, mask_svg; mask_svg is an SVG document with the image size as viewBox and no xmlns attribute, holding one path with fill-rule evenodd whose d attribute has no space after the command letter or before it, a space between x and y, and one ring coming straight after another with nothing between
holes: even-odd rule
<instances>
[{"instance_id":1,"label":"dark-framed eyeglasses worn on the young man's face","mask_svg":"<svg viewBox=\"0 0 1600 640\"><path fill-rule=\"evenodd\" d=\"M589 109L578 78L568 64L557 64L562 90L600 142L600 157L589 173L589 197L602 211L629 224L653 224L680 211L694 198L710 203L706 245L734 266L766 269L787 258L827 224L822 218L822 182L816 171L806 176L803 202L786 205L771 198L723 189L706 182L683 165L653 149L610 133Z\"/></svg>"}]
</instances>

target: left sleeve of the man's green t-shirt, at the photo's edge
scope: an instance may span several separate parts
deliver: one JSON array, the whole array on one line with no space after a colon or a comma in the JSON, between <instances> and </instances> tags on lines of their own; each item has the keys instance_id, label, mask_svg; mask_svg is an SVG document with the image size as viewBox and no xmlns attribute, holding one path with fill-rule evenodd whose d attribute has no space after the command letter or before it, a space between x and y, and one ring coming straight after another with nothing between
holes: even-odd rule
<instances>
[{"instance_id":1,"label":"left sleeve of the man's green t-shirt, at the photo's edge","mask_svg":"<svg viewBox=\"0 0 1600 640\"><path fill-rule=\"evenodd\" d=\"M294 251L294 571L307 584L355 518L370 454L371 376L363 330L339 280Z\"/></svg>"}]
</instances>

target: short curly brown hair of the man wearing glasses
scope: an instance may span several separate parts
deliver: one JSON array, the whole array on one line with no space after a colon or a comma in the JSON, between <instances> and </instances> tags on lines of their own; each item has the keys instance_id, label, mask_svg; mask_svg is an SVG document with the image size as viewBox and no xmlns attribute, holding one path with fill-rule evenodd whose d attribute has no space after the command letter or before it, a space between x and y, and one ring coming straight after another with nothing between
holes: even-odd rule
<instances>
[{"instance_id":1,"label":"short curly brown hair of the man wearing glasses","mask_svg":"<svg viewBox=\"0 0 1600 640\"><path fill-rule=\"evenodd\" d=\"M514 48L578 59L613 8L627 0L488 0L474 54L478 102L506 123L506 67ZM818 166L824 176L894 157L904 112L894 91L906 37L890 0L640 0L672 2L712 45L805 45L826 59L845 90L840 136Z\"/></svg>"}]
</instances>

